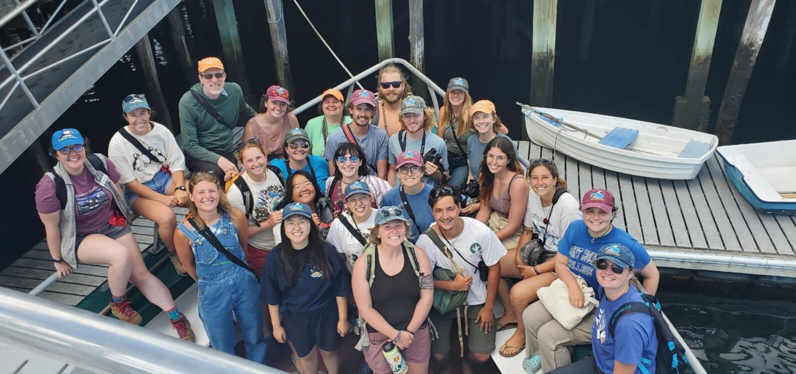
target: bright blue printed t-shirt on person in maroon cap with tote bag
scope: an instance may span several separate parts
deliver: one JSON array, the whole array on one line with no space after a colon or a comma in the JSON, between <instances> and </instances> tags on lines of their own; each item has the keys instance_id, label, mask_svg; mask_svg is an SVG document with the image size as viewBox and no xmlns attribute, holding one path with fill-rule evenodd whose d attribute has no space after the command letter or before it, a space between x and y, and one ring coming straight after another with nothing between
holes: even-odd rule
<instances>
[{"instance_id":1,"label":"bright blue printed t-shirt on person in maroon cap with tote bag","mask_svg":"<svg viewBox=\"0 0 796 374\"><path fill-rule=\"evenodd\" d=\"M644 246L633 239L627 232L614 226L608 235L596 238L591 241L586 223L583 220L572 221L564 237L558 242L558 252L569 257L568 265L576 275L580 275L595 290L599 286L595 273L595 257L599 248L606 244L622 244L630 248L636 258L633 268L641 270L650 263L650 254L646 252Z\"/></svg>"}]
</instances>

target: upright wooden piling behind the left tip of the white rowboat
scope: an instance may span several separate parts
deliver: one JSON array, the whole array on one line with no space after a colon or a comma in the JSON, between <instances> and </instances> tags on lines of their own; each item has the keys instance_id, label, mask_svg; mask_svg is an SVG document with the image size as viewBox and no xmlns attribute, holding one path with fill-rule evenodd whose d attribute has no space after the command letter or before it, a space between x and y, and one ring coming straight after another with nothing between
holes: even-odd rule
<instances>
[{"instance_id":1,"label":"upright wooden piling behind the left tip of the white rowboat","mask_svg":"<svg viewBox=\"0 0 796 374\"><path fill-rule=\"evenodd\" d=\"M552 106L553 67L556 62L558 0L533 0L531 105Z\"/></svg>"}]
</instances>

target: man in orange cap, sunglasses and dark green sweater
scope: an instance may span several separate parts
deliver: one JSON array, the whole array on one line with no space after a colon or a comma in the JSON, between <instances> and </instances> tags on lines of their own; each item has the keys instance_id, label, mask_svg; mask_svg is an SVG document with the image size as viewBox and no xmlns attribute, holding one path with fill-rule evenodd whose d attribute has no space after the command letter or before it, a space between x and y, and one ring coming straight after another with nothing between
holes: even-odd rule
<instances>
[{"instance_id":1,"label":"man in orange cap, sunglasses and dark green sweater","mask_svg":"<svg viewBox=\"0 0 796 374\"><path fill-rule=\"evenodd\" d=\"M232 130L257 114L244 100L240 86L226 79L221 60L200 60L199 83L182 95L178 105L185 166L191 171L213 170L220 181L238 172Z\"/></svg>"}]
</instances>

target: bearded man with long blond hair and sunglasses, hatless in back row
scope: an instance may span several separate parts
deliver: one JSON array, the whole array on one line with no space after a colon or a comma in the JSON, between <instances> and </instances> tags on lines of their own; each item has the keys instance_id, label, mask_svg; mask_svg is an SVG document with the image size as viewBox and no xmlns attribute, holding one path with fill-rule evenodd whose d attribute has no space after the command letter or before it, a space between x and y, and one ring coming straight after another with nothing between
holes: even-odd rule
<instances>
[{"instance_id":1,"label":"bearded man with long blond hair and sunglasses, hatless in back row","mask_svg":"<svg viewBox=\"0 0 796 374\"><path fill-rule=\"evenodd\" d=\"M377 107L378 126L387 131L387 136L400 131L400 103L412 92L404 72L395 64L380 68L378 76L379 105Z\"/></svg>"}]
</instances>

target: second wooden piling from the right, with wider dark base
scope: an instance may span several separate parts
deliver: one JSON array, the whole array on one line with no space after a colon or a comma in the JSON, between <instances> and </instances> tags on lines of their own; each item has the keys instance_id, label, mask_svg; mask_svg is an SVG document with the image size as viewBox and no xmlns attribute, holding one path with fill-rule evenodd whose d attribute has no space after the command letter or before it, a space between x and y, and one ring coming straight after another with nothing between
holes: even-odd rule
<instances>
[{"instance_id":1,"label":"second wooden piling from the right, with wider dark base","mask_svg":"<svg viewBox=\"0 0 796 374\"><path fill-rule=\"evenodd\" d=\"M708 111L703 110L704 88L708 83L710 60L713 56L713 42L716 41L716 28L719 25L722 0L702 0L699 20L689 65L689 77L685 83L685 97L675 98L672 124L687 129L707 130ZM708 99L708 106L710 101ZM708 115L705 115L707 113Z\"/></svg>"}]
</instances>

